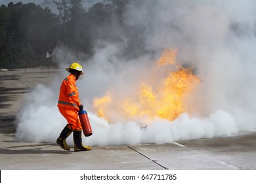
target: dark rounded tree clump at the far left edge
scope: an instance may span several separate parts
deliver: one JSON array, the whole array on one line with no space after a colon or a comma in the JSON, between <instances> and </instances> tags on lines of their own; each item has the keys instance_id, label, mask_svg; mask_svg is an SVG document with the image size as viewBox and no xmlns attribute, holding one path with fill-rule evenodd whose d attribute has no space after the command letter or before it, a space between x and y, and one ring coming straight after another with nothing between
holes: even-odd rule
<instances>
[{"instance_id":1,"label":"dark rounded tree clump at the far left edge","mask_svg":"<svg viewBox=\"0 0 256 183\"><path fill-rule=\"evenodd\" d=\"M34 3L1 5L0 15L1 67L45 64L46 50L54 48L58 40L56 31L51 32L58 23L56 15Z\"/></svg>"}]
</instances>

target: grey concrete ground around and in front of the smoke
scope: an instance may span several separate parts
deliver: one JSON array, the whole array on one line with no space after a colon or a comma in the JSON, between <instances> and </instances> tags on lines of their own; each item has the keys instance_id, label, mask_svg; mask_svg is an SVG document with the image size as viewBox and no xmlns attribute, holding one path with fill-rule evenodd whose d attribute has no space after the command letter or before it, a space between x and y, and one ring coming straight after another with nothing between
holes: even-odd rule
<instances>
[{"instance_id":1,"label":"grey concrete ground around and in front of the smoke","mask_svg":"<svg viewBox=\"0 0 256 183\"><path fill-rule=\"evenodd\" d=\"M39 69L38 69L39 71ZM48 84L56 72L0 72L1 170L255 170L256 131L230 137L170 144L96 146L89 152L68 152L57 144L15 142L12 122L24 94Z\"/></svg>"}]
</instances>

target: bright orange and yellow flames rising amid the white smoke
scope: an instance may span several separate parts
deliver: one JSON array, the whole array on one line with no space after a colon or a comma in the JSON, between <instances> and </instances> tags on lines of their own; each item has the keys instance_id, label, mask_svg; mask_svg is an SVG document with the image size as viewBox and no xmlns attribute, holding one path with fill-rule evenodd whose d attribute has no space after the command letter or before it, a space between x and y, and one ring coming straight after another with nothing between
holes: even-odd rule
<instances>
[{"instance_id":1,"label":"bright orange and yellow flames rising amid the white smoke","mask_svg":"<svg viewBox=\"0 0 256 183\"><path fill-rule=\"evenodd\" d=\"M156 61L158 67L175 65L177 49L164 50ZM156 86L140 82L139 93L135 98L114 101L110 92L102 98L94 99L94 107L98 116L105 120L114 116L122 116L127 120L146 116L174 120L182 112L188 112L186 97L192 93L200 80L193 75L192 69L177 67L177 71L169 71L167 76L159 80Z\"/></svg>"}]
</instances>

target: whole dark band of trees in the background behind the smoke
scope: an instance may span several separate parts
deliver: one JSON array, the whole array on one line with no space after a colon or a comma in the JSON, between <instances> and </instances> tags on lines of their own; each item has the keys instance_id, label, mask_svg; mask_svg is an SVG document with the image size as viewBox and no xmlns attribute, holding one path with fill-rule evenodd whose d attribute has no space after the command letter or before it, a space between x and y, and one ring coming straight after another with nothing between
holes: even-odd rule
<instances>
[{"instance_id":1,"label":"whole dark band of trees in the background behind the smoke","mask_svg":"<svg viewBox=\"0 0 256 183\"><path fill-rule=\"evenodd\" d=\"M53 2L59 14L35 3L1 5L0 68L47 65L51 58L46 52L58 44L91 56L96 41L121 40L114 30L129 33L130 27L123 23L129 0L105 0L88 9L81 0Z\"/></svg>"}]
</instances>

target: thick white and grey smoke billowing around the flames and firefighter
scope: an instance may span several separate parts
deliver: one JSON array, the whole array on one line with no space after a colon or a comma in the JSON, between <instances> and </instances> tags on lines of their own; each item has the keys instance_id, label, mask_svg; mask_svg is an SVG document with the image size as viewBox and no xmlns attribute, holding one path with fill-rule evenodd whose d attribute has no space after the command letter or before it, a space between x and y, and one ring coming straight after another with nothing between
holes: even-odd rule
<instances>
[{"instance_id":1,"label":"thick white and grey smoke billowing around the flames and firefighter","mask_svg":"<svg viewBox=\"0 0 256 183\"><path fill-rule=\"evenodd\" d=\"M146 50L154 53L133 60L120 59L123 43L105 42L93 58L81 58L56 49L63 73L50 87L39 85L28 94L18 114L18 141L55 142L66 120L58 112L58 90L70 63L82 64L85 76L77 80L79 96L93 128L83 138L93 146L167 143L213 138L256 127L256 2L247 1L135 1L125 12L125 24L140 28ZM133 31L133 30L131 30ZM102 46L104 45L104 46ZM92 111L94 97L108 90L116 97L133 95L138 82L153 73L152 62L164 48L178 48L177 62L196 68L202 82L190 104L198 114L181 114L173 122L155 119L146 128L138 121L98 118ZM143 120L143 119L138 119ZM71 138L68 141L72 141Z\"/></svg>"}]
</instances>

